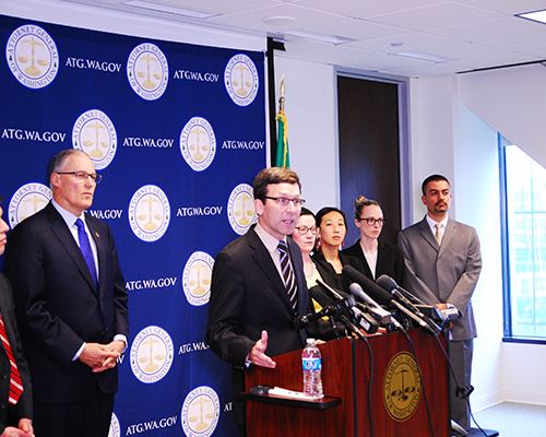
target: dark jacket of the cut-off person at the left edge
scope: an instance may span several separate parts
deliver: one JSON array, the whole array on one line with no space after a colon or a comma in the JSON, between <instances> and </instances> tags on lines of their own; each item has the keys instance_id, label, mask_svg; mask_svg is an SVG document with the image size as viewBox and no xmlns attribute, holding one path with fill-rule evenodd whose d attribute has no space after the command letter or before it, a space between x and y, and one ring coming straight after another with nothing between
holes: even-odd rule
<instances>
[{"instance_id":1,"label":"dark jacket of the cut-off person at the left edge","mask_svg":"<svg viewBox=\"0 0 546 437\"><path fill-rule=\"evenodd\" d=\"M10 395L10 373L11 365L8 354L0 342L0 375L5 375L0 378L0 434L3 433L7 426L17 426L19 421L23 417L33 418L33 393L31 387L31 373L28 365L23 356L23 347L21 346L21 338L19 336L15 312L13 311L12 291L10 283L3 274L0 273L0 312L5 326L8 341L10 342L11 351L15 357L21 381L23 382L23 393L14 409L13 422L7 422L8 397Z\"/></svg>"}]
</instances>

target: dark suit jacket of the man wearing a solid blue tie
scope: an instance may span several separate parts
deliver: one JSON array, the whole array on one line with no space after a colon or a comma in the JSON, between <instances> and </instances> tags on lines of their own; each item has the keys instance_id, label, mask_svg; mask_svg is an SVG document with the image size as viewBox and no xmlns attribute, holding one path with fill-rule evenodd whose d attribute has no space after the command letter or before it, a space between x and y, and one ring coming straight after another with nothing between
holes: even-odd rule
<instances>
[{"instance_id":1,"label":"dark suit jacket of the man wearing a solid blue tie","mask_svg":"<svg viewBox=\"0 0 546 437\"><path fill-rule=\"evenodd\" d=\"M118 369L93 374L72 361L83 342L107 344L129 335L128 294L118 255L104 222L85 215L97 247L99 287L64 220L49 203L14 227L5 257L35 402L71 402L88 397L95 381L118 389Z\"/></svg>"}]
</instances>

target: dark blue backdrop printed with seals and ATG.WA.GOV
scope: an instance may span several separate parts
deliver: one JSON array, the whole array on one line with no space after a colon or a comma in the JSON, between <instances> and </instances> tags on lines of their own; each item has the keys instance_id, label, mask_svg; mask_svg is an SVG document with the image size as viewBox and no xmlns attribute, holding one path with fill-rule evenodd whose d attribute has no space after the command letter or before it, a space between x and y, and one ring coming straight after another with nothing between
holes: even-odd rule
<instances>
[{"instance_id":1,"label":"dark blue backdrop printed with seals and ATG.WA.GOV","mask_svg":"<svg viewBox=\"0 0 546 437\"><path fill-rule=\"evenodd\" d=\"M0 23L4 218L46 205L61 150L103 175L88 213L112 229L131 323L110 435L237 435L230 368L204 331L214 257L256 221L263 54Z\"/></svg>"}]
</instances>

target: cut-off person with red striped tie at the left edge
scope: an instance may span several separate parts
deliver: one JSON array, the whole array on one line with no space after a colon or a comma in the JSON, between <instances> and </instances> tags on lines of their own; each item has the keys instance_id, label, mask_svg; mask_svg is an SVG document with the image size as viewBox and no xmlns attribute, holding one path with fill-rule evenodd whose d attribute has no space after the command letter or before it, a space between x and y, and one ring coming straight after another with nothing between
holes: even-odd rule
<instances>
[{"instance_id":1,"label":"cut-off person with red striped tie at the left edge","mask_svg":"<svg viewBox=\"0 0 546 437\"><path fill-rule=\"evenodd\" d=\"M0 198L1 202L2 198ZM10 227L2 220L2 208L0 206L0 256L5 249L5 233L9 229ZM31 374L23 356L15 314L13 311L11 286L1 273L0 315L2 319L1 323L3 323L7 334L7 339L4 338L0 341L2 344L0 347L0 375L5 375L4 378L0 379L0 437L34 437ZM0 336L3 336L3 333L0 333ZM13 364L11 363L12 359L14 359ZM16 375L21 379L21 387L17 387L20 383ZM12 380L13 382L11 382ZM13 392L10 388L12 383L15 385ZM20 393L21 389L22 392Z\"/></svg>"}]
</instances>

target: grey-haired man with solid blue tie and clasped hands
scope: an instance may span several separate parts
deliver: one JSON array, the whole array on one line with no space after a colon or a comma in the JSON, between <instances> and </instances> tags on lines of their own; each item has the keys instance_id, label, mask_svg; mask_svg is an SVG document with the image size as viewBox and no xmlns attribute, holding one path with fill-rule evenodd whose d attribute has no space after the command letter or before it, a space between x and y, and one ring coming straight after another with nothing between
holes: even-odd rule
<instances>
[{"instance_id":1,"label":"grey-haired man with solid blue tie and clasped hands","mask_svg":"<svg viewBox=\"0 0 546 437\"><path fill-rule=\"evenodd\" d=\"M108 225L84 213L100 180L91 158L60 152L49 178L51 202L14 227L5 259L33 378L34 428L106 437L128 294Z\"/></svg>"}]
</instances>

